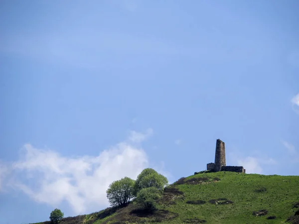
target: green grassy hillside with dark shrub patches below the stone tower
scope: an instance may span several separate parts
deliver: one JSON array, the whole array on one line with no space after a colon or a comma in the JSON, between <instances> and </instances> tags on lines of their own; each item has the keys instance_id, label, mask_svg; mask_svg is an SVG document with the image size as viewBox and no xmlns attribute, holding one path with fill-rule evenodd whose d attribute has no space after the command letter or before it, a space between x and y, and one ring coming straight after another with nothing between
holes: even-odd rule
<instances>
[{"instance_id":1,"label":"green grassy hillside with dark shrub patches below the stone tower","mask_svg":"<svg viewBox=\"0 0 299 224\"><path fill-rule=\"evenodd\" d=\"M131 203L61 224L272 224L285 223L298 210L299 176L217 172L192 175L166 188L155 212ZM293 219L299 223L299 214Z\"/></svg>"}]
</instances>

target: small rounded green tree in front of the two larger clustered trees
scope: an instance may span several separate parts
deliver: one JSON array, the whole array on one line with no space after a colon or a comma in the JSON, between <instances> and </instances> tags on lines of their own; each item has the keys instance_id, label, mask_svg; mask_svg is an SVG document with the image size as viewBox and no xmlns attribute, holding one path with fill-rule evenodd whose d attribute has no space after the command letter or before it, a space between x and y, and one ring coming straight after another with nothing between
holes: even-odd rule
<instances>
[{"instance_id":1,"label":"small rounded green tree in front of the two larger clustered trees","mask_svg":"<svg viewBox=\"0 0 299 224\"><path fill-rule=\"evenodd\" d=\"M142 205L145 209L154 210L160 197L161 191L157 188L143 188L137 194L136 203Z\"/></svg>"}]
</instances>

